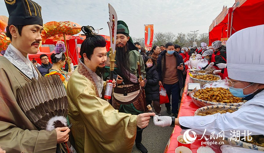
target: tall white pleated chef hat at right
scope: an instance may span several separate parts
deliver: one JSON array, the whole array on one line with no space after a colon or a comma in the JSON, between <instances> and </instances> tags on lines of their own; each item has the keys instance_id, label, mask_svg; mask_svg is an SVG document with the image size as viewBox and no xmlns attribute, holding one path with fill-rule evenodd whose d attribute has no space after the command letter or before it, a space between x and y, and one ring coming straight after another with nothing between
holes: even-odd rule
<instances>
[{"instance_id":1,"label":"tall white pleated chef hat at right","mask_svg":"<svg viewBox=\"0 0 264 153\"><path fill-rule=\"evenodd\" d=\"M226 45L228 76L264 84L264 24L234 33Z\"/></svg>"}]
</instances>

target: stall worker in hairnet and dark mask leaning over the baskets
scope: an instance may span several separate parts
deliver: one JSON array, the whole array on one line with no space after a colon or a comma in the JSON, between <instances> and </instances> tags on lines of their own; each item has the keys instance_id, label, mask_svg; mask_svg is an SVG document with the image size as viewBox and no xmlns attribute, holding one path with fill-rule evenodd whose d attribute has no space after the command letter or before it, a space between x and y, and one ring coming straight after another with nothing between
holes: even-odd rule
<instances>
[{"instance_id":1,"label":"stall worker in hairnet and dark mask leaning over the baskets","mask_svg":"<svg viewBox=\"0 0 264 153\"><path fill-rule=\"evenodd\" d=\"M208 60L208 63L211 64L213 67L215 67L216 70L221 70L221 69L217 66L217 64L219 64L219 63L227 63L227 61L226 61L225 58L223 58L221 55L215 55L215 54L213 54L213 53L214 53L213 50L206 50L206 51L203 53L202 56L204 57L204 59ZM209 64L208 64L208 65L209 65ZM204 68L202 68L202 69L206 69L208 65L206 65L206 66L205 66ZM223 73L222 73L222 71L221 71L221 73L218 73L218 75L221 76L222 79L225 79L225 78L224 78L224 75L223 75Z\"/></svg>"}]
</instances>

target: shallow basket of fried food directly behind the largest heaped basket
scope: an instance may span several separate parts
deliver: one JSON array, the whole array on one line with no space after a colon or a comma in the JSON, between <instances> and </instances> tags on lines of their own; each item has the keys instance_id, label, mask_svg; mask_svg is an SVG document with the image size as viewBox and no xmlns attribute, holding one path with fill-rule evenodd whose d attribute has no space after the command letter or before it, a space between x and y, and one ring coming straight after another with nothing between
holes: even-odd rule
<instances>
[{"instance_id":1,"label":"shallow basket of fried food directly behind the largest heaped basket","mask_svg":"<svg viewBox=\"0 0 264 153\"><path fill-rule=\"evenodd\" d=\"M201 86L207 83L213 83L221 80L221 77L219 75L212 75L212 74L193 74L190 76L190 83L200 83Z\"/></svg>"}]
</instances>

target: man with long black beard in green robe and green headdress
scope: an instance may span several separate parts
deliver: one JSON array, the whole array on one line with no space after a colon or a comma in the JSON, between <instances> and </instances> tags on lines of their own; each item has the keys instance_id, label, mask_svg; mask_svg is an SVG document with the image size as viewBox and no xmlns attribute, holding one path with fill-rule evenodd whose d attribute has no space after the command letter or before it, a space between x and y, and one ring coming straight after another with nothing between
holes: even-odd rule
<instances>
[{"instance_id":1,"label":"man with long black beard in green robe and green headdress","mask_svg":"<svg viewBox=\"0 0 264 153\"><path fill-rule=\"evenodd\" d=\"M145 97L142 96L141 88L145 86L146 82L144 79L139 80L138 71L141 72L142 78L145 78L145 64L138 52L138 47L134 45L129 36L129 30L124 21L117 22L116 45L114 78L118 86L114 89L112 106L123 113L134 115L144 113L146 108L143 98ZM109 53L107 56L109 57ZM138 69L137 62L140 63L140 69ZM105 68L107 72L104 79L107 79L110 78L109 58L107 58ZM141 152L147 153L146 147L141 143L142 130L137 128L136 147Z\"/></svg>"}]
</instances>

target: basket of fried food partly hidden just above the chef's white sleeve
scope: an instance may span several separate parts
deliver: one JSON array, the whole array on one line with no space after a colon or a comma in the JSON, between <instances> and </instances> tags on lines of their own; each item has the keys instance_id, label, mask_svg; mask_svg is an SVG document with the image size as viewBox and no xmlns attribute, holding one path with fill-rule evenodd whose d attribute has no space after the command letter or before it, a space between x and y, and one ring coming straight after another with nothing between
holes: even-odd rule
<instances>
[{"instance_id":1,"label":"basket of fried food partly hidden just above the chef's white sleeve","mask_svg":"<svg viewBox=\"0 0 264 153\"><path fill-rule=\"evenodd\" d=\"M227 112L233 113L237 111L240 107L236 106L225 106L225 105L212 105L212 106L204 106L197 109L194 113L194 116L207 116L216 113L225 114Z\"/></svg>"}]
</instances>

